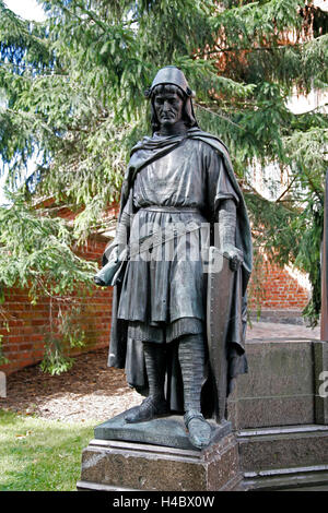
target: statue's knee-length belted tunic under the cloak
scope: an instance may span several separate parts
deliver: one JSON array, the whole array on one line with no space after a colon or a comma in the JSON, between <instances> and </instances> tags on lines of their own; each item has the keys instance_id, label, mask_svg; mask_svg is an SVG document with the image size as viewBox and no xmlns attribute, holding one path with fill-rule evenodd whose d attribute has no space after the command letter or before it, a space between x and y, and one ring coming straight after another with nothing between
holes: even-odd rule
<instances>
[{"instance_id":1,"label":"statue's knee-length belted tunic under the cloak","mask_svg":"<svg viewBox=\"0 0 328 513\"><path fill-rule=\"evenodd\" d=\"M206 320L202 255L210 244L209 223L223 199L239 201L222 157L201 141L186 139L138 172L124 208L124 217L130 219L131 252L152 236L163 235L164 243L156 243L155 237L153 244L143 251L140 244L140 252L129 260L119 319L156 326L188 318L191 333L201 331L199 321Z\"/></svg>"}]
</instances>

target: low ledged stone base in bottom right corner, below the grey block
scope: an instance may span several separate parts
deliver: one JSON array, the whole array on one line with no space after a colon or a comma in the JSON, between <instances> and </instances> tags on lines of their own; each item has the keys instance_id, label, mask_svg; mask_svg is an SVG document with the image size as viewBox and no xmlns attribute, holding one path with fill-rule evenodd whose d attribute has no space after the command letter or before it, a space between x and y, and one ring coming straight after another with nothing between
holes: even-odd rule
<instances>
[{"instance_id":1,"label":"low ledged stone base in bottom right corner, below the grey block","mask_svg":"<svg viewBox=\"0 0 328 513\"><path fill-rule=\"evenodd\" d=\"M237 440L244 489L328 488L328 426L245 429Z\"/></svg>"}]
</instances>

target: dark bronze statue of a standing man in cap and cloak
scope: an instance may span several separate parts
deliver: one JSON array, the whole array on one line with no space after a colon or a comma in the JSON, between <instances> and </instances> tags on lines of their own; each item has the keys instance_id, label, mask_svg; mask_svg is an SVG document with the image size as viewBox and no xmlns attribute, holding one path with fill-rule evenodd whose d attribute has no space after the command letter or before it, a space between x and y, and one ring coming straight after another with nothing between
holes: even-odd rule
<instances>
[{"instance_id":1,"label":"dark bronze statue of a standing man in cap and cloak","mask_svg":"<svg viewBox=\"0 0 328 513\"><path fill-rule=\"evenodd\" d=\"M161 69L145 95L153 134L131 151L117 235L103 260L119 269L108 365L125 368L128 383L147 395L126 415L126 422L184 411L189 440L202 449L211 437L206 418L220 422L224 417L216 380L222 369L215 373L213 365L219 361L220 367L224 359L224 397L233 378L247 371L250 229L227 150L199 129L184 73L175 67ZM215 298L215 281L204 270L213 246L230 259L230 299L222 297L224 290ZM213 301L209 307L208 282L208 300ZM215 319L215 311L224 311L220 301L229 302L229 311L224 341L218 341L223 357L218 360L212 355L215 333L208 344L215 323L208 321L207 327L207 310Z\"/></svg>"}]
</instances>

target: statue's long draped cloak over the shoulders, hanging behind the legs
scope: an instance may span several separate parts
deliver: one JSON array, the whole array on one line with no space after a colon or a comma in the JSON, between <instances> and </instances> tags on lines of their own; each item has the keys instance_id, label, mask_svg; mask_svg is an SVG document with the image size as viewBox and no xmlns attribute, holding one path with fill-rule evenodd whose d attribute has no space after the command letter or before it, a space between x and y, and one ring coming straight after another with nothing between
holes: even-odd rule
<instances>
[{"instance_id":1,"label":"statue's long draped cloak over the shoulders, hanging behind the legs","mask_svg":"<svg viewBox=\"0 0 328 513\"><path fill-rule=\"evenodd\" d=\"M226 146L218 138L201 131L199 128L191 128L183 135L172 135L167 138L143 138L131 151L131 158L125 175L121 190L120 211L121 213L129 198L130 189L136 175L147 165L167 155L176 148L186 138L200 140L212 146L222 157L225 169L230 176L233 189L238 196L236 247L243 251L244 262L235 272L233 300L230 314L230 326L227 330L229 347L229 383L239 373L247 372L247 360L245 355L246 334L246 287L251 272L251 236L250 227L245 206L245 201L236 181L232 163ZM216 207L218 205L214 205ZM209 219L213 222L214 219ZM107 262L110 249L106 248L103 264ZM108 366L126 370L128 384L143 395L148 394L148 381L144 367L143 346L141 342L131 341L127 337L127 321L117 318L121 285L114 287L112 306L112 327L109 342ZM211 416L215 404L215 392L212 385L210 369L202 390L202 410L207 416ZM231 386L229 386L229 391ZM177 360L176 344L167 344L167 369L166 369L166 393L172 409L183 410L183 384L180 369ZM229 393L229 392L227 392Z\"/></svg>"}]
</instances>

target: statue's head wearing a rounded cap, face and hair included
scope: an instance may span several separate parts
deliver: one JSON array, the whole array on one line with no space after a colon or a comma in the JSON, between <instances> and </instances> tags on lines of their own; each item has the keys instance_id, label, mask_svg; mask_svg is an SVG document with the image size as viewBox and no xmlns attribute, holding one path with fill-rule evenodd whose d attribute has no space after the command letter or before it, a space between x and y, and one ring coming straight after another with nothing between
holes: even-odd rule
<instances>
[{"instance_id":1,"label":"statue's head wearing a rounded cap, face and hair included","mask_svg":"<svg viewBox=\"0 0 328 513\"><path fill-rule=\"evenodd\" d=\"M145 96L151 102L153 132L159 131L165 123L177 121L184 121L187 128L198 126L191 103L191 97L195 95L178 68L174 65L162 68L147 90Z\"/></svg>"}]
</instances>

